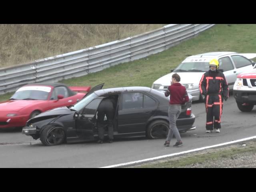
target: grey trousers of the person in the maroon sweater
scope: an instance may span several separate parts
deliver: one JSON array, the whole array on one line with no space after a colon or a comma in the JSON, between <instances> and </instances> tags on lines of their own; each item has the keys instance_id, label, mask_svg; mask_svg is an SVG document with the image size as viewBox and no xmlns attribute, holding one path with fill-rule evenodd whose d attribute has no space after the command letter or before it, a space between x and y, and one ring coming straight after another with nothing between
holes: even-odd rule
<instances>
[{"instance_id":1,"label":"grey trousers of the person in the maroon sweater","mask_svg":"<svg viewBox=\"0 0 256 192\"><path fill-rule=\"evenodd\" d=\"M180 133L178 131L178 128L176 126L176 120L178 119L179 115L181 113L181 105L180 104L170 104L168 109L168 116L169 116L169 123L170 123L170 129L168 132L168 136L166 138L167 141L170 141L173 137L173 134L177 141L181 141Z\"/></svg>"}]
</instances>

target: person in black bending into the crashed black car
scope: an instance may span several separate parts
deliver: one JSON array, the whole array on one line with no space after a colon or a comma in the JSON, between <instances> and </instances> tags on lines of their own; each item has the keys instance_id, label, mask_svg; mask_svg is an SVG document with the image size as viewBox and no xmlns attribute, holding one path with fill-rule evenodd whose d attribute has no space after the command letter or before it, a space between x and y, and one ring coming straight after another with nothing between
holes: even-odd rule
<instances>
[{"instance_id":1,"label":"person in black bending into the crashed black car","mask_svg":"<svg viewBox=\"0 0 256 192\"><path fill-rule=\"evenodd\" d=\"M102 100L98 107L98 120L97 120L97 127L98 127L98 136L99 139L98 143L102 144L104 140L104 127L106 124L108 125L108 142L113 142L113 130L114 130L114 98L105 98ZM104 117L107 117L106 123L104 122Z\"/></svg>"}]
</instances>

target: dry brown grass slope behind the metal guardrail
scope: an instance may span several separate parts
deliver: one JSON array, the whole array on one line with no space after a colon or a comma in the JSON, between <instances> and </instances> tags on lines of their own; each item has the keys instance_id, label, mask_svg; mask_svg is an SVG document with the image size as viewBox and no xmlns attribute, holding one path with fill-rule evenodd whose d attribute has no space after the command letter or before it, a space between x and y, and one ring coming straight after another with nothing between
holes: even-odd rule
<instances>
[{"instance_id":1,"label":"dry brown grass slope behind the metal guardrail","mask_svg":"<svg viewBox=\"0 0 256 192\"><path fill-rule=\"evenodd\" d=\"M0 24L0 68L29 63L166 24Z\"/></svg>"}]
</instances>

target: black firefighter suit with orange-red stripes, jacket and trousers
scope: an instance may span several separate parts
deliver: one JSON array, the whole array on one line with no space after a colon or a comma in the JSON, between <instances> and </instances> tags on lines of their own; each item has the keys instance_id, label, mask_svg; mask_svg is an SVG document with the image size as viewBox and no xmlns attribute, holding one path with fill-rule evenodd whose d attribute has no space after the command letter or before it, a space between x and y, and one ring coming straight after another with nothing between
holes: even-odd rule
<instances>
[{"instance_id":1,"label":"black firefighter suit with orange-red stripes, jacket and trousers","mask_svg":"<svg viewBox=\"0 0 256 192\"><path fill-rule=\"evenodd\" d=\"M219 70L205 72L199 89L205 95L206 130L220 129L223 99L228 98L228 83L224 74Z\"/></svg>"}]
</instances>

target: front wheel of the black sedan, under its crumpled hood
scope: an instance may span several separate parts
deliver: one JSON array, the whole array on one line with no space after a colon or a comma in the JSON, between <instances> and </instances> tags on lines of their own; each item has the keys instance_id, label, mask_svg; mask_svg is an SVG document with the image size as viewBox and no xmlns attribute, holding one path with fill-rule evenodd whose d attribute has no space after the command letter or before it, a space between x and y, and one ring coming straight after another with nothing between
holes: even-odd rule
<instances>
[{"instance_id":1,"label":"front wheel of the black sedan, under its crumpled hood","mask_svg":"<svg viewBox=\"0 0 256 192\"><path fill-rule=\"evenodd\" d=\"M40 140L45 146L60 145L66 141L66 134L62 127L48 125L41 132Z\"/></svg>"}]
</instances>

